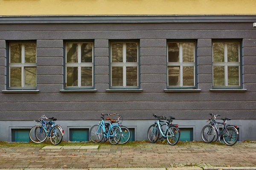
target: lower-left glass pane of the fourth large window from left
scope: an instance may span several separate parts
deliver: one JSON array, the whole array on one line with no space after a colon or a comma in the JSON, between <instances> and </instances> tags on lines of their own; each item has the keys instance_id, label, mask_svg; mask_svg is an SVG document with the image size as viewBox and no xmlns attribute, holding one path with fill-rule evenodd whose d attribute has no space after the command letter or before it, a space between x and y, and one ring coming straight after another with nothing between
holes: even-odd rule
<instances>
[{"instance_id":1,"label":"lower-left glass pane of the fourth large window from left","mask_svg":"<svg viewBox=\"0 0 256 170\"><path fill-rule=\"evenodd\" d=\"M180 67L168 66L168 85L179 86L180 85Z\"/></svg>"}]
</instances>

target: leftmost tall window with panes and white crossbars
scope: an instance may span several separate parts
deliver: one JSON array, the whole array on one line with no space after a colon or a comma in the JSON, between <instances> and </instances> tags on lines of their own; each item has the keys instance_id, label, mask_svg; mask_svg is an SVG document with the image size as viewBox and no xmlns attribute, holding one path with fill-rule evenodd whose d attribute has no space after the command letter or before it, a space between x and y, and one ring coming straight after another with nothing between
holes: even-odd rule
<instances>
[{"instance_id":1,"label":"leftmost tall window with panes and white crossbars","mask_svg":"<svg viewBox=\"0 0 256 170\"><path fill-rule=\"evenodd\" d=\"M36 88L36 43L9 43L9 81L11 89Z\"/></svg>"}]
</instances>

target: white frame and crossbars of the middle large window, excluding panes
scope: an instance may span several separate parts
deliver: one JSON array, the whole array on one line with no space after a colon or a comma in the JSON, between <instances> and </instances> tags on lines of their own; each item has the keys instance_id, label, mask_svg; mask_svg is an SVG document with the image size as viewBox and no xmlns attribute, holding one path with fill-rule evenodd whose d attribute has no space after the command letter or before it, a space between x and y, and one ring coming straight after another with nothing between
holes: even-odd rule
<instances>
[{"instance_id":1,"label":"white frame and crossbars of the middle large window, excluding panes","mask_svg":"<svg viewBox=\"0 0 256 170\"><path fill-rule=\"evenodd\" d=\"M123 44L123 62L112 62L112 44L122 43ZM126 62L126 43L137 43L137 62ZM139 42L111 42L110 43L110 79L111 88L138 88L139 87ZM112 86L112 67L123 68L123 86ZM137 86L126 86L126 67L137 67Z\"/></svg>"}]
</instances>

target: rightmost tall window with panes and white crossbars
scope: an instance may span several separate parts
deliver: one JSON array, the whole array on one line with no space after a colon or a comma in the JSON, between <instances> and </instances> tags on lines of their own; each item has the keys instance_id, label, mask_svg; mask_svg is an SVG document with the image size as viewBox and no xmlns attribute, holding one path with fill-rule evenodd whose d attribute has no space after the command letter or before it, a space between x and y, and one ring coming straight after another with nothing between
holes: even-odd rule
<instances>
[{"instance_id":1,"label":"rightmost tall window with panes and white crossbars","mask_svg":"<svg viewBox=\"0 0 256 170\"><path fill-rule=\"evenodd\" d=\"M212 42L213 87L241 87L240 42Z\"/></svg>"}]
</instances>

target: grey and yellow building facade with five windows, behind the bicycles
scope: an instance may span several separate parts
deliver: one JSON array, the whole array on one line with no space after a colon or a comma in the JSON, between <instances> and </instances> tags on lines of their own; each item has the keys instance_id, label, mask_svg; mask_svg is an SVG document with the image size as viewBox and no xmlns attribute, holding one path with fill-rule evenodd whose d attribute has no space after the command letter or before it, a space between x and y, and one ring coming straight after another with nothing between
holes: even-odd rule
<instances>
[{"instance_id":1,"label":"grey and yellow building facade with five windows, behind the bicycles","mask_svg":"<svg viewBox=\"0 0 256 170\"><path fill-rule=\"evenodd\" d=\"M2 0L0 140L29 140L44 114L87 141L100 113L121 114L131 140L147 139L152 114L201 140L209 113L255 140L253 0L146 2Z\"/></svg>"}]
</instances>

